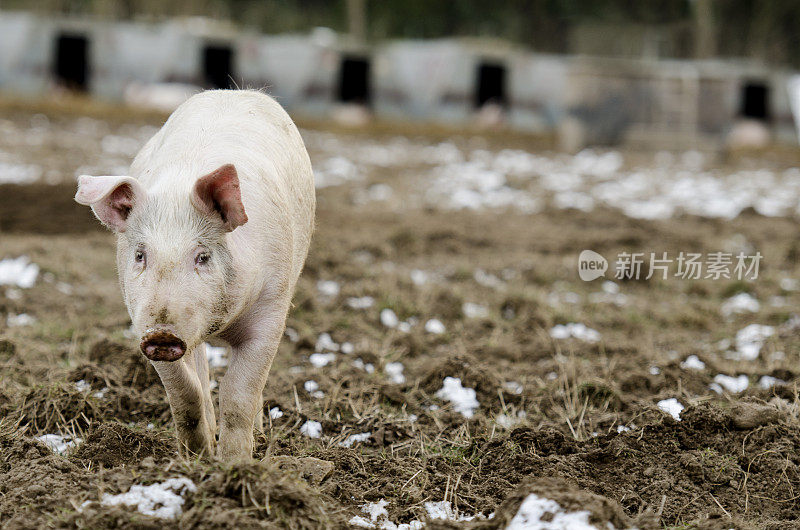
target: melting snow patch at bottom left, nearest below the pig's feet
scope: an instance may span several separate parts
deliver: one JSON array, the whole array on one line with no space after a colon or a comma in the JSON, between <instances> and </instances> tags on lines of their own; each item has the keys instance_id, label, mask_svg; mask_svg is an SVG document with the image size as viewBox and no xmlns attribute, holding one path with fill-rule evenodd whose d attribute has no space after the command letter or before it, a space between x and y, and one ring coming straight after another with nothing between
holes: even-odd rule
<instances>
[{"instance_id":1,"label":"melting snow patch at bottom left, nearest below the pig's feet","mask_svg":"<svg viewBox=\"0 0 800 530\"><path fill-rule=\"evenodd\" d=\"M164 482L150 486L131 486L127 493L119 495L103 495L100 503L104 506L118 506L120 504L136 509L151 517L159 519L177 519L183 513L185 499L182 495L186 492L195 492L197 487L188 478L171 478Z\"/></svg>"}]
</instances>

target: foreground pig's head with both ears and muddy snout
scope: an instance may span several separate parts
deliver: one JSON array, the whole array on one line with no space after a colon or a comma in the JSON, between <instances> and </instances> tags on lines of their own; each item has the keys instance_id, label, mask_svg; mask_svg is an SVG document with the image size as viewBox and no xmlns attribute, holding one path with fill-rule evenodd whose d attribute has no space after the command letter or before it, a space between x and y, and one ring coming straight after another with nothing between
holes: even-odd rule
<instances>
[{"instance_id":1,"label":"foreground pig's head with both ears and muddy snout","mask_svg":"<svg viewBox=\"0 0 800 530\"><path fill-rule=\"evenodd\" d=\"M120 286L142 353L174 361L219 331L234 281L225 236L247 222L233 165L188 189L83 175L75 200L117 234Z\"/></svg>"}]
</instances>

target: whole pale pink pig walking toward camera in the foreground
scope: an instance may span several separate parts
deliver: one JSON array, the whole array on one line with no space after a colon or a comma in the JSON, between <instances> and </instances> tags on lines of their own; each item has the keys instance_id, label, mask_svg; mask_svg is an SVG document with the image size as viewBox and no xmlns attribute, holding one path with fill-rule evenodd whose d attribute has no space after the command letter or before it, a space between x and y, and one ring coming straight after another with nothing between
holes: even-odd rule
<instances>
[{"instance_id":1,"label":"whole pale pink pig walking toward camera in the foreground","mask_svg":"<svg viewBox=\"0 0 800 530\"><path fill-rule=\"evenodd\" d=\"M145 144L130 175L81 175L75 200L116 234L122 296L181 446L251 458L314 228L311 162L289 115L258 91L202 92ZM206 342L230 347L218 442Z\"/></svg>"}]
</instances>

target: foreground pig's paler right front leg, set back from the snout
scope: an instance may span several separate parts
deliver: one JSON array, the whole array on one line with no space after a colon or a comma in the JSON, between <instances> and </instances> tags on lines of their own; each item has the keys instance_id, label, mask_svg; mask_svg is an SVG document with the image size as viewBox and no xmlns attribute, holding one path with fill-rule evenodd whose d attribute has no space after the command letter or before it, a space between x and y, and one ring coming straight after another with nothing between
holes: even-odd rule
<instances>
[{"instance_id":1,"label":"foreground pig's paler right front leg, set back from the snout","mask_svg":"<svg viewBox=\"0 0 800 530\"><path fill-rule=\"evenodd\" d=\"M286 325L288 300L273 301L238 326L228 372L219 388L218 456L245 460L253 456L253 427L263 414L262 392Z\"/></svg>"}]
</instances>

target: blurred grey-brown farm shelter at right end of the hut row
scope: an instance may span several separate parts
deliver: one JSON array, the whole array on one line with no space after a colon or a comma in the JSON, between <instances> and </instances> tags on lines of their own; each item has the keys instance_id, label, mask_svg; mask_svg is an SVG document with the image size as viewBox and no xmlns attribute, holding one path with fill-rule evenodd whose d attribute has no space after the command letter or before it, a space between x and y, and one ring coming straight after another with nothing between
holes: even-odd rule
<instances>
[{"instance_id":1,"label":"blurred grey-brown farm shelter at right end of the hut row","mask_svg":"<svg viewBox=\"0 0 800 530\"><path fill-rule=\"evenodd\" d=\"M588 143L713 147L742 119L791 141L789 75L734 61L574 57L567 107Z\"/></svg>"}]
</instances>

